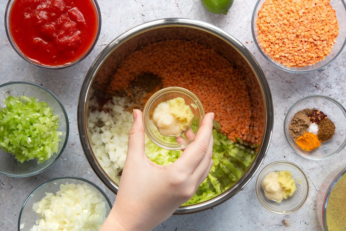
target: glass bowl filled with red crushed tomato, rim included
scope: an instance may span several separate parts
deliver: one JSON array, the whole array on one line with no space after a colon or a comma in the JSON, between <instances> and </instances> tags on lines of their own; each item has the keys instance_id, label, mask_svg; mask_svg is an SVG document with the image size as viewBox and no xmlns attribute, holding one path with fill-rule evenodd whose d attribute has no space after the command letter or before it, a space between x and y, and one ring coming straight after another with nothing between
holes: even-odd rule
<instances>
[{"instance_id":1,"label":"glass bowl filled with red crushed tomato, rim included","mask_svg":"<svg viewBox=\"0 0 346 231\"><path fill-rule=\"evenodd\" d=\"M100 8L96 0L9 0L5 30L24 60L47 69L67 68L95 46Z\"/></svg>"}]
</instances>

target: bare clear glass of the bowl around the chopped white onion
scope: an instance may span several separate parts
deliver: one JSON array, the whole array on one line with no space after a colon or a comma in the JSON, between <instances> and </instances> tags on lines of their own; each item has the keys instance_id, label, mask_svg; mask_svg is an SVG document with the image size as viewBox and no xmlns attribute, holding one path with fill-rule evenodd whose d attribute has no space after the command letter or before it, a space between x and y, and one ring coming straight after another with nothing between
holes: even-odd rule
<instances>
[{"instance_id":1,"label":"bare clear glass of the bowl around the chopped white onion","mask_svg":"<svg viewBox=\"0 0 346 231\"><path fill-rule=\"evenodd\" d=\"M60 190L61 184L86 184L88 185L92 190L98 193L98 196L102 199L103 202L106 204L106 217L109 214L112 204L109 201L109 198L107 195L100 189L97 185L92 183L89 180L80 178L80 177L73 177L73 176L64 176L64 177L57 177L51 180L46 181L42 185L38 186L33 192L30 193L28 198L25 200L23 206L21 207L19 217L18 217L18 231L24 231L29 230L31 227L33 227L36 223L36 220L39 219L37 217L38 215L33 210L33 204L36 202L39 202L42 200L43 197L46 196L46 193L53 193L56 195L56 193Z\"/></svg>"}]
</instances>

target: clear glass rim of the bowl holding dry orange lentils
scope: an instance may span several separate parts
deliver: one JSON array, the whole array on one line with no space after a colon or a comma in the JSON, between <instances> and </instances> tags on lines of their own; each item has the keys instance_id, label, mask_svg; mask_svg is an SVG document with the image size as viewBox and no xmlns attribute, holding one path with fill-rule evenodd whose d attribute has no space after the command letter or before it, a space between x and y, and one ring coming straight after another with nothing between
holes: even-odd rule
<instances>
[{"instance_id":1,"label":"clear glass rim of the bowl holding dry orange lentils","mask_svg":"<svg viewBox=\"0 0 346 231\"><path fill-rule=\"evenodd\" d=\"M269 62L271 63L272 65L274 65L276 68L280 69L280 70L283 70L283 71L286 71L286 72L290 72L290 73L309 73L309 72L314 72L314 71L317 71L317 70L320 70L322 68L325 68L327 65L329 65L331 62L333 62L336 57L339 56L339 54L344 50L344 47L346 45L346 36L345 36L345 39L344 39L344 42L342 44L342 46L340 47L340 50L334 55L334 57L329 60L327 63L325 63L324 65L320 66L320 67L317 67L317 68L314 68L314 69L311 69L311 70L302 70L301 68L290 68L290 67L286 67L280 63L277 63L276 61L270 59L263 51L262 51L262 48L260 46L260 44L258 44L257 42L257 35L255 34L255 29L254 29L254 23L255 23L255 17L257 18L257 13L258 11L256 10L258 8L258 6L260 5L260 2L263 1L263 0L257 0L256 4L255 4L255 7L252 11L252 17L251 17L251 32L252 32L252 37L254 39L254 43L257 47L257 50L260 51L261 55ZM346 3L344 0L338 0L340 1L343 6L344 6L344 11L345 11L345 14L346 14ZM335 9L335 8L333 8ZM322 60L320 60L319 62L321 62ZM302 67L304 68L304 67Z\"/></svg>"}]
</instances>

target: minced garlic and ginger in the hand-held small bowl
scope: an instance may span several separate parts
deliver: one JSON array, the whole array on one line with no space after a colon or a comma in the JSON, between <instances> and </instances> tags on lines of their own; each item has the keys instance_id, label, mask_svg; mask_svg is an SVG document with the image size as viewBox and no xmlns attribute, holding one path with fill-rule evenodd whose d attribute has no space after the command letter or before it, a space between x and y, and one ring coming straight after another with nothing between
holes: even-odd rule
<instances>
[{"instance_id":1,"label":"minced garlic and ginger in the hand-held small bowl","mask_svg":"<svg viewBox=\"0 0 346 231\"><path fill-rule=\"evenodd\" d=\"M182 97L170 99L156 106L153 112L153 123L164 136L180 136L188 129L194 114Z\"/></svg>"}]
</instances>

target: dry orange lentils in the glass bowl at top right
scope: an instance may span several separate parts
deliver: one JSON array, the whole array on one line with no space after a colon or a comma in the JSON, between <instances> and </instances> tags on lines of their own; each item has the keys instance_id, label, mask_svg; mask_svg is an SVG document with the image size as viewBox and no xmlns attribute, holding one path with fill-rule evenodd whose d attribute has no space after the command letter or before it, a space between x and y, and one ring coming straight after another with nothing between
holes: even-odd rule
<instances>
[{"instance_id":1,"label":"dry orange lentils in the glass bowl at top right","mask_svg":"<svg viewBox=\"0 0 346 231\"><path fill-rule=\"evenodd\" d=\"M260 46L274 61L289 67L325 59L339 34L330 0L265 0L257 15Z\"/></svg>"}]
</instances>

